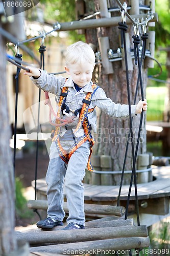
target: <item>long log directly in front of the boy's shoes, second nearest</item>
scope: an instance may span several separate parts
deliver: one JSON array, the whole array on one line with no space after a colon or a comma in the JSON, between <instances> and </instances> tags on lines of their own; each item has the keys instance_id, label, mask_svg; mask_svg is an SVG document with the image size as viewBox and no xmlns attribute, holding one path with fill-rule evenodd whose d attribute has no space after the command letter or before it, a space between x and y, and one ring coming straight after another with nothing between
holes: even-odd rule
<instances>
[{"instance_id":1,"label":"long log directly in front of the boy's shoes, second nearest","mask_svg":"<svg viewBox=\"0 0 170 256\"><path fill-rule=\"evenodd\" d=\"M25 240L30 245L49 243L75 243L111 238L148 237L147 226L88 228L80 230L57 230L39 232L16 232L18 241Z\"/></svg>"}]
</instances>

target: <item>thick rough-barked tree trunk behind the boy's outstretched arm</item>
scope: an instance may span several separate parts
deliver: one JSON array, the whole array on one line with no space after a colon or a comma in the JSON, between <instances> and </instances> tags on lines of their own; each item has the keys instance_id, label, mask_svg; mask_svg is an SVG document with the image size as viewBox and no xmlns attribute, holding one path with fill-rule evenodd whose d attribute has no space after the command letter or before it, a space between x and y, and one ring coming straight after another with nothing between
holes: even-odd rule
<instances>
[{"instance_id":1,"label":"thick rough-barked tree trunk behind the boy's outstretched arm","mask_svg":"<svg viewBox=\"0 0 170 256\"><path fill-rule=\"evenodd\" d=\"M110 0L110 7L117 7L115 0ZM96 12L100 10L99 0L85 0L86 13L91 11ZM144 4L141 1L140 4ZM112 16L121 15L120 12L112 12ZM133 26L128 26L130 47L133 49L132 35ZM86 41L87 43L92 42L98 47L99 37L109 37L110 49L117 50L120 48L120 30L118 26L110 28L98 28L96 30L86 30ZM103 60L102 60L103 61ZM134 60L132 60L132 70L129 71L129 83L130 83L130 94L131 94L131 104L134 101L137 77L138 77L138 66L134 65ZM111 98L115 103L128 104L128 94L127 94L127 80L126 71L123 69L122 61L111 62L113 66L113 74L104 74L102 64L96 67L95 81L100 87L104 89L107 97ZM147 86L147 69L142 68L142 80L143 80L143 92L145 97L145 88ZM140 94L140 84L139 92L136 102L141 99ZM126 144L128 140L129 133L129 118L128 119L112 119L103 112L98 113L98 134L95 136L96 143L94 145L93 153L95 155L108 155L111 156L112 166L111 170L122 170L124 156L126 151ZM145 115L143 118L140 143L138 153L142 154L146 152L146 133L145 133ZM140 115L133 118L133 134L134 142L136 143L138 127L140 122ZM135 144L136 145L136 144ZM128 157L126 161L126 169L132 169L132 151L131 143L129 144Z\"/></svg>"}]
</instances>

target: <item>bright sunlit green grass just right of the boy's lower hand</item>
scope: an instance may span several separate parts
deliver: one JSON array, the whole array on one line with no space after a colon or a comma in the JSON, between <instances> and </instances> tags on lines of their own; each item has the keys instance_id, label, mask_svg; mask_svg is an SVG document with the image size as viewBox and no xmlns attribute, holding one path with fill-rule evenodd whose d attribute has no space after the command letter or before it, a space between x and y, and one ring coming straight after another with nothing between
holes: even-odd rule
<instances>
[{"instance_id":1,"label":"bright sunlit green grass just right of the boy's lower hand","mask_svg":"<svg viewBox=\"0 0 170 256\"><path fill-rule=\"evenodd\" d=\"M165 86L147 88L147 121L162 121L166 90Z\"/></svg>"}]
</instances>

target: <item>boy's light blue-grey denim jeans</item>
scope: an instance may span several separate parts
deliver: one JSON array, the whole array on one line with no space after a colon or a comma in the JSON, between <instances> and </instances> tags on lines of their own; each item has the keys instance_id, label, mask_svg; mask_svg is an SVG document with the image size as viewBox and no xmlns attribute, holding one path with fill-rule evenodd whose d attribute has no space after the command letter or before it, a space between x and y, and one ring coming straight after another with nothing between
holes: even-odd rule
<instances>
[{"instance_id":1,"label":"boy's light blue-grey denim jeans","mask_svg":"<svg viewBox=\"0 0 170 256\"><path fill-rule=\"evenodd\" d=\"M73 142L63 141L62 146L68 150ZM63 185L67 196L69 215L67 224L75 222L85 224L84 186L82 180L90 154L89 141L84 142L66 164L60 157L55 142L50 147L50 162L46 173L47 183L47 217L62 221L65 217L63 209Z\"/></svg>"}]
</instances>

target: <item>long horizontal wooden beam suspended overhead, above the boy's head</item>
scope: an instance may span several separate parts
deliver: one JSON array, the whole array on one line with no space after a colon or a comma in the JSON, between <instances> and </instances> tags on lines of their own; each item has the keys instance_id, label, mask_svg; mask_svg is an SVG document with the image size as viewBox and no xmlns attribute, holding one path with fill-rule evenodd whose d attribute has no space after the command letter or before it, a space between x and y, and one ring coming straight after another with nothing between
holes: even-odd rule
<instances>
[{"instance_id":1,"label":"long horizontal wooden beam suspended overhead, above the boy's head","mask_svg":"<svg viewBox=\"0 0 170 256\"><path fill-rule=\"evenodd\" d=\"M153 19L149 21L149 23L157 22L158 15L157 13L153 13ZM139 15L131 15L131 17L134 19L141 19L141 18L147 18L148 14L139 14ZM111 26L118 26L118 22L122 22L122 17L111 17L111 18L99 18L99 19L89 19L89 20L79 20L74 22L65 22L60 23L60 30L59 31L70 31L70 30L76 30L76 29L91 29L91 28L101 28L101 27L111 27ZM132 24L131 20L127 17L126 20L127 24ZM54 24L55 26L55 24Z\"/></svg>"}]
</instances>

